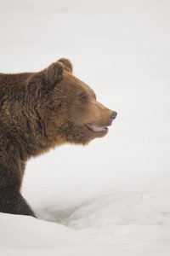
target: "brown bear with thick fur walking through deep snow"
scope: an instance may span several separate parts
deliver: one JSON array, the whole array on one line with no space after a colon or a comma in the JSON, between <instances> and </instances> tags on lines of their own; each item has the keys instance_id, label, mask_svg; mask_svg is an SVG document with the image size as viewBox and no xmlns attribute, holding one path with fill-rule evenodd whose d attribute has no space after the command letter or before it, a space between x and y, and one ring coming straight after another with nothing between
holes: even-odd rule
<instances>
[{"instance_id":1,"label":"brown bear with thick fur walking through deep snow","mask_svg":"<svg viewBox=\"0 0 170 256\"><path fill-rule=\"evenodd\" d=\"M115 118L66 59L37 73L0 73L0 212L35 217L20 194L26 161L63 143L104 137Z\"/></svg>"}]
</instances>

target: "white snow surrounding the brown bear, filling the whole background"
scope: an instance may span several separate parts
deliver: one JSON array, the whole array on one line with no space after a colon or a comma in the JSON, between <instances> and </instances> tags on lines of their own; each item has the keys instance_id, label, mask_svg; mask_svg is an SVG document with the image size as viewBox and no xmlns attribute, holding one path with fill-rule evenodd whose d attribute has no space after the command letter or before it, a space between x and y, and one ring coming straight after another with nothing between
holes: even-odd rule
<instances>
[{"instance_id":1,"label":"white snow surrounding the brown bear, filling the whole background","mask_svg":"<svg viewBox=\"0 0 170 256\"><path fill-rule=\"evenodd\" d=\"M118 115L106 137L32 159L0 255L170 255L170 1L0 0L0 72L61 57Z\"/></svg>"}]
</instances>

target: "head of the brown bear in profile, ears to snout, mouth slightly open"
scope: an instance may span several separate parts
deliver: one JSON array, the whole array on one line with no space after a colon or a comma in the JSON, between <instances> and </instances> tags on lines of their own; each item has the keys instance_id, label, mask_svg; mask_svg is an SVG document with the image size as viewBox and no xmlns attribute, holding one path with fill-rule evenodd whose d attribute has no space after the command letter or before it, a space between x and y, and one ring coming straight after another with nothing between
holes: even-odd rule
<instances>
[{"instance_id":1,"label":"head of the brown bear in profile, ears to snout, mouth slightly open","mask_svg":"<svg viewBox=\"0 0 170 256\"><path fill-rule=\"evenodd\" d=\"M33 73L27 89L54 146L85 145L104 137L116 118L116 112L97 102L94 90L72 74L71 62L66 59Z\"/></svg>"}]
</instances>

